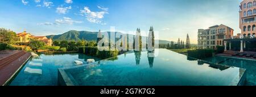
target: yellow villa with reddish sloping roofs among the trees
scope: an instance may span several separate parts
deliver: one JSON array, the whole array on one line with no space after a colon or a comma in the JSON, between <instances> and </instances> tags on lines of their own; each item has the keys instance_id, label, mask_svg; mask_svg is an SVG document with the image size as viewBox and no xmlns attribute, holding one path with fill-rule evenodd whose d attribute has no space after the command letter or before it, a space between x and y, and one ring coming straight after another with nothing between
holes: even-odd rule
<instances>
[{"instance_id":1,"label":"yellow villa with reddish sloping roofs among the trees","mask_svg":"<svg viewBox=\"0 0 256 97\"><path fill-rule=\"evenodd\" d=\"M46 43L47 46L52 46L52 39L48 39L46 36L33 36L30 33L27 33L26 31L22 33L17 33L18 42L21 43L28 43L31 39L37 39L39 41L42 41Z\"/></svg>"}]
</instances>

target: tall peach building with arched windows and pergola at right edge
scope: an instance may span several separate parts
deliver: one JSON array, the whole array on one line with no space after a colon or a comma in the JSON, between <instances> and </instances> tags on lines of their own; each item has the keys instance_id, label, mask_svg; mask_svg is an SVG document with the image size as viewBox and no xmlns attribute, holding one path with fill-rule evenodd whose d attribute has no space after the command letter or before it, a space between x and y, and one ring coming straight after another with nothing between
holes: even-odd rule
<instances>
[{"instance_id":1,"label":"tall peach building with arched windows and pergola at right edge","mask_svg":"<svg viewBox=\"0 0 256 97\"><path fill-rule=\"evenodd\" d=\"M240 29L232 39L225 39L225 51L256 51L255 25L256 25L256 1L244 0L240 5ZM228 49L227 49L228 48Z\"/></svg>"}]
</instances>

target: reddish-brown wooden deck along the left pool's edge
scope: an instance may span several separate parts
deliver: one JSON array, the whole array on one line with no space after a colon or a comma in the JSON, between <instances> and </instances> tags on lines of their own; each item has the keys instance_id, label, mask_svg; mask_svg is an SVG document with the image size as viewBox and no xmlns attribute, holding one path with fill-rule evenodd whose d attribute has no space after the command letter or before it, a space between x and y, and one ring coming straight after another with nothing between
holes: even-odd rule
<instances>
[{"instance_id":1,"label":"reddish-brown wooden deck along the left pool's edge","mask_svg":"<svg viewBox=\"0 0 256 97\"><path fill-rule=\"evenodd\" d=\"M0 51L0 85L10 81L30 56L30 53L22 50Z\"/></svg>"}]
</instances>

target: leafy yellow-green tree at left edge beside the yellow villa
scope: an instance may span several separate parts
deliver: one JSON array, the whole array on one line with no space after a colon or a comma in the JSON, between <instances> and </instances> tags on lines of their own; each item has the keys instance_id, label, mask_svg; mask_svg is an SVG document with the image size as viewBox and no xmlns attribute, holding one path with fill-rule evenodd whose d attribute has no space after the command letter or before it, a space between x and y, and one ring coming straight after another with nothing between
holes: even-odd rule
<instances>
[{"instance_id":1,"label":"leafy yellow-green tree at left edge beside the yellow villa","mask_svg":"<svg viewBox=\"0 0 256 97\"><path fill-rule=\"evenodd\" d=\"M18 41L16 33L12 30L0 28L0 42L7 44L15 44Z\"/></svg>"}]
</instances>

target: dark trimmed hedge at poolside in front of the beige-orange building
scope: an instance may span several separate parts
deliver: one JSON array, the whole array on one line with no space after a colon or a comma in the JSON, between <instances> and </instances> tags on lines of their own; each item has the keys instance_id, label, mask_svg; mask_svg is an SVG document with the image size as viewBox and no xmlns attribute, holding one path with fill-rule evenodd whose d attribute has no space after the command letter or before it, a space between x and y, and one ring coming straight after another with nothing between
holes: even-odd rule
<instances>
[{"instance_id":1,"label":"dark trimmed hedge at poolside in front of the beige-orange building","mask_svg":"<svg viewBox=\"0 0 256 97\"><path fill-rule=\"evenodd\" d=\"M197 49L197 50L189 50L188 56L196 59L204 59L212 57L213 50L212 49Z\"/></svg>"}]
</instances>

